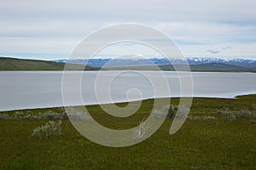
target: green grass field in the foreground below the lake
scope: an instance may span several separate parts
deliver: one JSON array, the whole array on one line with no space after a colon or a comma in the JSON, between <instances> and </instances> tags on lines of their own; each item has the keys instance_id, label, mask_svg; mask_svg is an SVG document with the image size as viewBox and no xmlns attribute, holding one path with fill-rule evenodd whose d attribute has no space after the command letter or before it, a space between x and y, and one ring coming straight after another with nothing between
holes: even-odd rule
<instances>
[{"instance_id":1,"label":"green grass field in the foreground below the lake","mask_svg":"<svg viewBox=\"0 0 256 170\"><path fill-rule=\"evenodd\" d=\"M109 116L98 105L88 110L97 122L111 128L135 127L148 116L153 100L143 101L133 116ZM177 105L178 99L172 99ZM49 139L30 139L32 130L48 120L0 120L2 169L256 169L256 122L224 122L218 110L253 110L256 95L237 99L195 98L190 116L215 116L212 120L187 120L174 135L172 119L140 144L110 148L90 142L68 120L62 133ZM124 106L125 104L119 104ZM31 110L32 114L60 108ZM2 112L3 113L3 112ZM15 111L4 112L13 115ZM123 121L120 121L123 120Z\"/></svg>"}]
</instances>

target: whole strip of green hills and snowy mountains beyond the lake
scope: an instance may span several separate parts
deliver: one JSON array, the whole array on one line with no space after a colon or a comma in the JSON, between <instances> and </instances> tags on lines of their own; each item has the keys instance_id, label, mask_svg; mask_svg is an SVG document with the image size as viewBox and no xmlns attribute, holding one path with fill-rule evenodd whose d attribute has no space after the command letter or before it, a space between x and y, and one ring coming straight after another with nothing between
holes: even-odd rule
<instances>
[{"instance_id":1,"label":"whole strip of green hills and snowy mountains beyond the lake","mask_svg":"<svg viewBox=\"0 0 256 170\"><path fill-rule=\"evenodd\" d=\"M248 71L256 72L256 61L250 59L60 59L55 61L0 57L0 71L97 71L97 70L162 70L183 71L189 63L191 71ZM87 63L86 68L84 65Z\"/></svg>"}]
</instances>

